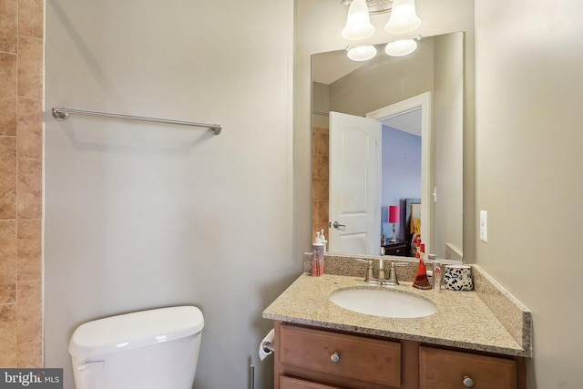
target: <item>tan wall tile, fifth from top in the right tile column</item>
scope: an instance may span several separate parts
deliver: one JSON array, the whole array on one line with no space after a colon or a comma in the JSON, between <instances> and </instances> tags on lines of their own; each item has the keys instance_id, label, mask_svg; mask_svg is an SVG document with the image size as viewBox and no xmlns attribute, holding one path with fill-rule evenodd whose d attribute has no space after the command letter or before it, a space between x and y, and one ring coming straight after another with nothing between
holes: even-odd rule
<instances>
[{"instance_id":1,"label":"tan wall tile, fifth from top in the right tile column","mask_svg":"<svg viewBox=\"0 0 583 389\"><path fill-rule=\"evenodd\" d=\"M16 241L16 280L41 280L42 222L41 220L18 220Z\"/></svg>"}]
</instances>

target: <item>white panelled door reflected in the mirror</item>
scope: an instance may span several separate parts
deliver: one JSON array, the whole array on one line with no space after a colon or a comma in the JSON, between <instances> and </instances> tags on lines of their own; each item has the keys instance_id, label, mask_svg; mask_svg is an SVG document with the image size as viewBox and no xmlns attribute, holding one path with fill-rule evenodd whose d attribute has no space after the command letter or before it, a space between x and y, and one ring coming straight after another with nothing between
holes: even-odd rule
<instances>
[{"instance_id":1,"label":"white panelled door reflected in the mirror","mask_svg":"<svg viewBox=\"0 0 583 389\"><path fill-rule=\"evenodd\" d=\"M381 123L330 112L329 251L381 250Z\"/></svg>"}]
</instances>

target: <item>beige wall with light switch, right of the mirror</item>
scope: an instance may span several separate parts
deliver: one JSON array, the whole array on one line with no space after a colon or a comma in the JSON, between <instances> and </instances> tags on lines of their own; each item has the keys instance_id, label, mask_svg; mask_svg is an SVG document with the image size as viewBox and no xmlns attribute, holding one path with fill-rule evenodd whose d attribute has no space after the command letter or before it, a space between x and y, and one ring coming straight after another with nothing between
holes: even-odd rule
<instances>
[{"instance_id":1,"label":"beige wall with light switch, right of the mirror","mask_svg":"<svg viewBox=\"0 0 583 389\"><path fill-rule=\"evenodd\" d=\"M529 389L582 385L582 12L476 1L477 262L533 311Z\"/></svg>"}]
</instances>

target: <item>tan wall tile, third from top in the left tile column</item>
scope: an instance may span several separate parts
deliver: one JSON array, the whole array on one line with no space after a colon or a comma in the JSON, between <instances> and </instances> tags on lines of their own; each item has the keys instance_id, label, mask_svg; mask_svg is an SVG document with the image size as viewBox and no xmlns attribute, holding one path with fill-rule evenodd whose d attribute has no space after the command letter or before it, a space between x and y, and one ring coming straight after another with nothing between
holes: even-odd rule
<instances>
[{"instance_id":1,"label":"tan wall tile, third from top in the left tile column","mask_svg":"<svg viewBox=\"0 0 583 389\"><path fill-rule=\"evenodd\" d=\"M16 138L0 137L0 220L16 219Z\"/></svg>"}]
</instances>

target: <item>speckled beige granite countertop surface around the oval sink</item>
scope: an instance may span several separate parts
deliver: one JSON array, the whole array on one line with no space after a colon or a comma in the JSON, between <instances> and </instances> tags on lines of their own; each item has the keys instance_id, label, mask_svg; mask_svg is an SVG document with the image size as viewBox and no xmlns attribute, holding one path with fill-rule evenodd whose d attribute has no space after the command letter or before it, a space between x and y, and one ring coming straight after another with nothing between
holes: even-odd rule
<instances>
[{"instance_id":1,"label":"speckled beige granite countertop surface around the oval sink","mask_svg":"<svg viewBox=\"0 0 583 389\"><path fill-rule=\"evenodd\" d=\"M312 277L302 274L265 309L263 317L488 353L532 355L530 347L523 347L521 344L524 342L508 332L477 292L420 291L412 287L412 282L400 283L396 287L383 289L421 296L433 302L437 312L421 318L398 319L349 311L330 302L330 294L342 289L381 287L363 282L363 277L353 275ZM530 325L530 322L527 324ZM529 330L527 335L529 346Z\"/></svg>"}]
</instances>

